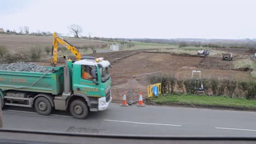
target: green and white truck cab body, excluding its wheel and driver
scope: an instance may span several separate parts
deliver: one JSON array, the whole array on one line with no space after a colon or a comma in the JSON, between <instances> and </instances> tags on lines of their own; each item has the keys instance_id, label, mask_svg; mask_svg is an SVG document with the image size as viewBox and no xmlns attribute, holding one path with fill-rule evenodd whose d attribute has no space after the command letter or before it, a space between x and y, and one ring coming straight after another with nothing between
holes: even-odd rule
<instances>
[{"instance_id":1,"label":"green and white truck cab body, excluding its wheel and driver","mask_svg":"<svg viewBox=\"0 0 256 144\"><path fill-rule=\"evenodd\" d=\"M105 110L112 100L109 65L110 63L103 61L103 58L83 59L73 63L74 95L87 97L90 111ZM88 76L84 77L84 73L88 73Z\"/></svg>"}]
</instances>

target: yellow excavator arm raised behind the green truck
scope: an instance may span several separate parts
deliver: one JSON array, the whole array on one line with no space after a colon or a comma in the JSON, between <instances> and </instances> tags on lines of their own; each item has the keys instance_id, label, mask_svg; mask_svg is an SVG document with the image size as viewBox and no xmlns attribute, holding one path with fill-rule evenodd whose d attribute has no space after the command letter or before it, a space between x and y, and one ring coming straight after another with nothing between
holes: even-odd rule
<instances>
[{"instance_id":1,"label":"yellow excavator arm raised behind the green truck","mask_svg":"<svg viewBox=\"0 0 256 144\"><path fill-rule=\"evenodd\" d=\"M82 54L78 51L75 46L68 43L65 39L61 38L60 35L58 35L56 32L53 34L53 50L51 51L51 64L56 65L57 64L57 57L58 57L58 47L59 44L65 46L69 51L75 55L75 58L77 58L77 61L81 60Z\"/></svg>"}]
</instances>

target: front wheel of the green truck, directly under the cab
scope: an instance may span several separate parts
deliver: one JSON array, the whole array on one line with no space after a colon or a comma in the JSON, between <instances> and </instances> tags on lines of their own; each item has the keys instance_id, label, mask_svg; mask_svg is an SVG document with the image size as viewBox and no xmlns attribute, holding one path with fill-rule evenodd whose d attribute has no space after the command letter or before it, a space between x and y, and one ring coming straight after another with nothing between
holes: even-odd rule
<instances>
[{"instance_id":1,"label":"front wheel of the green truck, directly under the cab","mask_svg":"<svg viewBox=\"0 0 256 144\"><path fill-rule=\"evenodd\" d=\"M83 100L73 100L69 106L71 115L78 119L85 119L88 116L88 107Z\"/></svg>"}]
</instances>

